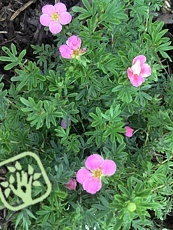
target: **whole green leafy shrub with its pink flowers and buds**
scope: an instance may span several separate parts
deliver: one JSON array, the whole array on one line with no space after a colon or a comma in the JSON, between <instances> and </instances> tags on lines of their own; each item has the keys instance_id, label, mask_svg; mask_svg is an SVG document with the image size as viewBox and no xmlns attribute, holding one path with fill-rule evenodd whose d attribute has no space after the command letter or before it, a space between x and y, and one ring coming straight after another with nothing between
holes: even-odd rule
<instances>
[{"instance_id":1,"label":"whole green leafy shrub with its pink flowers and buds","mask_svg":"<svg viewBox=\"0 0 173 230\"><path fill-rule=\"evenodd\" d=\"M32 151L52 183L43 202L8 211L16 229L160 229L173 184L172 46L154 18L163 2L47 4L53 44L32 45L35 61L2 47L14 75L0 85L1 160Z\"/></svg>"}]
</instances>

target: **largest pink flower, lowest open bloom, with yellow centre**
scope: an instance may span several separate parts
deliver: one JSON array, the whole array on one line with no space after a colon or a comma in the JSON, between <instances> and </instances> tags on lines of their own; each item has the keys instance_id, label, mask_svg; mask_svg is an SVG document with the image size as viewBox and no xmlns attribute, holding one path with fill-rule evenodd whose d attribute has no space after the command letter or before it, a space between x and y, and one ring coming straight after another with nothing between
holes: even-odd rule
<instances>
[{"instance_id":1,"label":"largest pink flower, lowest open bloom, with yellow centre","mask_svg":"<svg viewBox=\"0 0 173 230\"><path fill-rule=\"evenodd\" d=\"M99 154L93 154L86 159L86 168L81 168L76 174L76 180L82 184L88 193L95 194L101 187L101 177L112 176L116 171L116 164L112 160L104 160Z\"/></svg>"}]
</instances>

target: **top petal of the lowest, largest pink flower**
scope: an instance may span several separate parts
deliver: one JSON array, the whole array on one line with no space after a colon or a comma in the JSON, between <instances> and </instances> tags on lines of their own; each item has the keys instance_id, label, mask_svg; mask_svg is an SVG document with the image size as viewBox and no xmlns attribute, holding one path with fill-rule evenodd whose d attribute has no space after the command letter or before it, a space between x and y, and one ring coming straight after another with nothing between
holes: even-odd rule
<instances>
[{"instance_id":1,"label":"top petal of the lowest, largest pink flower","mask_svg":"<svg viewBox=\"0 0 173 230\"><path fill-rule=\"evenodd\" d=\"M98 168L101 168L103 163L104 163L103 157L101 157L99 154L93 154L86 159L85 166L87 169L93 171Z\"/></svg>"}]
</instances>

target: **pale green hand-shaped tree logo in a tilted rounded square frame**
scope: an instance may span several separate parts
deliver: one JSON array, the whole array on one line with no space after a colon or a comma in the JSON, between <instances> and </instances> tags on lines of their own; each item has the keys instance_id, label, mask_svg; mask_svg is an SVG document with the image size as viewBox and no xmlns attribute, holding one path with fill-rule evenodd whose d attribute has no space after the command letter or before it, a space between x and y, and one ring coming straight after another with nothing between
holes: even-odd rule
<instances>
[{"instance_id":1,"label":"pale green hand-shaped tree logo in a tilted rounded square frame","mask_svg":"<svg viewBox=\"0 0 173 230\"><path fill-rule=\"evenodd\" d=\"M50 194L51 183L35 153L21 153L1 162L1 167L6 168L7 173L0 177L0 199L7 209L21 210L41 202Z\"/></svg>"}]
</instances>

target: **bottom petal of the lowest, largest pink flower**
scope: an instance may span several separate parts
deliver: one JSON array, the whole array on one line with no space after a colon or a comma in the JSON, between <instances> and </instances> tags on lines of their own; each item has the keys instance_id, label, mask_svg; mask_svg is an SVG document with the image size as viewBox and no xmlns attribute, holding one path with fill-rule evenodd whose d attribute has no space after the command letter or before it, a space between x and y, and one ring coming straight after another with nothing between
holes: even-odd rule
<instances>
[{"instance_id":1,"label":"bottom petal of the lowest, largest pink flower","mask_svg":"<svg viewBox=\"0 0 173 230\"><path fill-rule=\"evenodd\" d=\"M83 182L82 186L83 186L83 189L87 191L88 193L95 194L101 189L102 183L97 178L87 178Z\"/></svg>"}]
</instances>

